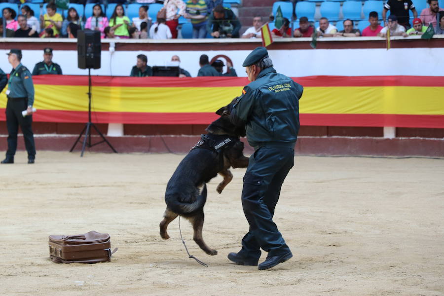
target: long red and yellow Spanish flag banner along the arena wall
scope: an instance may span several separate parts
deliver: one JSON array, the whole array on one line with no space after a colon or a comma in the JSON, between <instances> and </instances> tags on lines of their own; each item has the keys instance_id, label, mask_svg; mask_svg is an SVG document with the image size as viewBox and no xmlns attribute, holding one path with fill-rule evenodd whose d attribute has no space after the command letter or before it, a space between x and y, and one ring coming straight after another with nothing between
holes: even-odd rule
<instances>
[{"instance_id":1,"label":"long red and yellow Spanish flag banner along the arena wall","mask_svg":"<svg viewBox=\"0 0 444 296\"><path fill-rule=\"evenodd\" d=\"M86 122L88 77L34 76L34 121ZM302 125L444 128L444 77L306 76ZM246 77L92 77L96 123L209 124L242 94ZM279 90L277 85L276 90ZM0 95L0 120L6 97Z\"/></svg>"}]
</instances>

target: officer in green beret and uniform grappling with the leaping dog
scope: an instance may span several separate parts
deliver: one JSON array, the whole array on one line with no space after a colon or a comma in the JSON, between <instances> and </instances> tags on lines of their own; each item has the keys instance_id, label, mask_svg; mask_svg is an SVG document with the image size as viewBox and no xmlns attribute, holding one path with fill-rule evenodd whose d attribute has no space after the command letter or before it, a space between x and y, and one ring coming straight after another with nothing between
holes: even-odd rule
<instances>
[{"instance_id":1,"label":"officer in green beret and uniform grappling with the leaping dog","mask_svg":"<svg viewBox=\"0 0 444 296\"><path fill-rule=\"evenodd\" d=\"M255 148L242 189L242 208L250 229L242 239L242 249L228 254L228 259L257 265L262 249L268 252L258 266L263 270L293 257L272 218L282 183L294 164L303 87L276 73L264 47L253 50L242 66L251 83L242 90L230 118L236 125L245 124L248 142Z\"/></svg>"}]
</instances>

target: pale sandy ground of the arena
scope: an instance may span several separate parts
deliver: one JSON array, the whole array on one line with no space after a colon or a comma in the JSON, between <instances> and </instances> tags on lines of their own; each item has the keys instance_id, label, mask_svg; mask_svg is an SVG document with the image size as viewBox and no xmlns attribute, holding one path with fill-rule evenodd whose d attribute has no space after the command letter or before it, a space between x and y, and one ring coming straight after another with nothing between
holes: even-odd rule
<instances>
[{"instance_id":1,"label":"pale sandy ground of the arena","mask_svg":"<svg viewBox=\"0 0 444 296\"><path fill-rule=\"evenodd\" d=\"M4 155L1 152L1 155ZM208 186L204 254L182 220L162 240L165 186L184 155L38 151L0 166L0 295L444 295L444 160L300 157L275 222L294 257L270 270L239 266L247 230L245 169L222 195ZM109 263L57 264L49 234L111 234ZM266 257L262 253L262 258Z\"/></svg>"}]
</instances>

